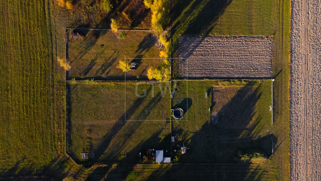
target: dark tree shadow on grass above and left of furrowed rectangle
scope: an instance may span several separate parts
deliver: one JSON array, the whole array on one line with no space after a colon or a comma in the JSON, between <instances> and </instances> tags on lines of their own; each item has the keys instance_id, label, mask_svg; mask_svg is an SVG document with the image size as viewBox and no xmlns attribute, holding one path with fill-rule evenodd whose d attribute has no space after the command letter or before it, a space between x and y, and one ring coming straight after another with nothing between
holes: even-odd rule
<instances>
[{"instance_id":1,"label":"dark tree shadow on grass above and left of furrowed rectangle","mask_svg":"<svg viewBox=\"0 0 321 181\"><path fill-rule=\"evenodd\" d=\"M216 21L224 13L232 0L173 0L171 3L171 33L173 58L179 55L179 37L181 35L209 35ZM194 47L202 42L195 43ZM190 52L194 52L191 48ZM184 57L188 58L188 57ZM177 59L172 60L173 77L179 76Z\"/></svg>"}]
</instances>

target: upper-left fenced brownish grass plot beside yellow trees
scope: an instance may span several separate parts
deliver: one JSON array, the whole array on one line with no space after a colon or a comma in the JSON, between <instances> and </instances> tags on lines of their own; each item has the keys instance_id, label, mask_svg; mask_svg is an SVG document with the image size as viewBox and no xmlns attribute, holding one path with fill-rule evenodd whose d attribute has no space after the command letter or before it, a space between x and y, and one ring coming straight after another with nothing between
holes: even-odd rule
<instances>
[{"instance_id":1,"label":"upper-left fenced brownish grass plot beside yellow trees","mask_svg":"<svg viewBox=\"0 0 321 181\"><path fill-rule=\"evenodd\" d=\"M161 44L149 31L77 31L82 31L86 36L72 39L70 35L67 49L68 62L71 65L69 78L124 80L126 75L127 79L137 79L137 76L147 79L149 67L158 67L162 62L159 54L163 48L160 48ZM120 32L126 33L125 39L117 38ZM96 39L92 36L96 36ZM126 74L117 68L119 61L123 61L125 56L128 62L139 64L136 70L128 71Z\"/></svg>"}]
</instances>

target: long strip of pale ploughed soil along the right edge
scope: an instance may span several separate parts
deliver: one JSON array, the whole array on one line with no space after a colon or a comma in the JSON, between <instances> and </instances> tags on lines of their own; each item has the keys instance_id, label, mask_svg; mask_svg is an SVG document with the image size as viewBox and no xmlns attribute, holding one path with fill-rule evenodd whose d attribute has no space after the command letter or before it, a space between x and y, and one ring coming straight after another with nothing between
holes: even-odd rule
<instances>
[{"instance_id":1,"label":"long strip of pale ploughed soil along the right edge","mask_svg":"<svg viewBox=\"0 0 321 181\"><path fill-rule=\"evenodd\" d=\"M321 9L293 0L291 18L290 180L321 180Z\"/></svg>"}]
</instances>

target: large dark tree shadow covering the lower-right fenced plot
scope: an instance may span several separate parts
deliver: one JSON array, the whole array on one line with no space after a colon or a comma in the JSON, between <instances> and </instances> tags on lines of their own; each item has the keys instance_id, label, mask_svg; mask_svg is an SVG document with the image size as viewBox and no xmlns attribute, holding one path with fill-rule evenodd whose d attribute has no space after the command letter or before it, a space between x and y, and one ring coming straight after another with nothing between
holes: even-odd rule
<instances>
[{"instance_id":1,"label":"large dark tree shadow covering the lower-right fenced plot","mask_svg":"<svg viewBox=\"0 0 321 181\"><path fill-rule=\"evenodd\" d=\"M173 159L177 157L179 163L239 163L235 159L238 152L242 154L259 152L264 154L265 157L270 157L272 154L271 138L273 142L276 142L277 138L269 130L265 130L264 125L267 123L262 122L266 121L266 119L263 119L264 113L256 112L257 102L262 96L261 86L262 84L259 84L253 88L252 82L242 86L229 99L229 102L219 107L220 110L218 112L214 110L218 104L217 98L224 99L221 97L224 94L219 94L218 92L227 90L210 88L212 89L210 91L212 96L211 112L206 114L208 118L206 120L205 116L205 120L203 120L205 123L201 128L196 131L189 130L188 123L196 125L194 122L199 119L193 117L193 113L188 116L188 120L184 121L185 124L178 123L186 126L173 128L173 133L178 133L180 138L175 142L172 150L180 150L180 148L176 148L176 145L182 145L183 143L189 148L187 154L173 152ZM195 112L199 111L199 109L204 109L204 107L196 108L195 105L199 105L199 103L195 102L192 105ZM266 109L268 109L268 106ZM189 114L189 110L186 114ZM203 111L201 113L206 112ZM212 114L217 116L217 122L210 121Z\"/></svg>"}]
</instances>

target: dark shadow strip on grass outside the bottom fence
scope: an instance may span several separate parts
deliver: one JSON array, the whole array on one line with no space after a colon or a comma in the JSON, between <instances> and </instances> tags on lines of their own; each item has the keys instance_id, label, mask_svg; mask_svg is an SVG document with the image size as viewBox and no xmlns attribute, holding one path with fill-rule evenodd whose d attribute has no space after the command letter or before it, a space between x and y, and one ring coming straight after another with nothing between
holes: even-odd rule
<instances>
[{"instance_id":1,"label":"dark shadow strip on grass outside the bottom fence","mask_svg":"<svg viewBox=\"0 0 321 181\"><path fill-rule=\"evenodd\" d=\"M143 173L143 170L138 173ZM253 165L174 164L167 167L158 167L155 171L149 174L149 177L145 180L259 181L265 178L265 174L266 172L262 168Z\"/></svg>"}]
</instances>

